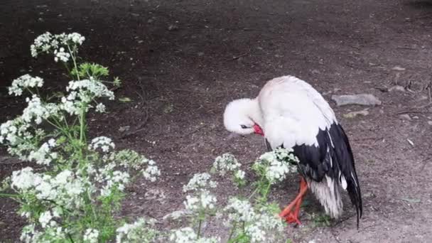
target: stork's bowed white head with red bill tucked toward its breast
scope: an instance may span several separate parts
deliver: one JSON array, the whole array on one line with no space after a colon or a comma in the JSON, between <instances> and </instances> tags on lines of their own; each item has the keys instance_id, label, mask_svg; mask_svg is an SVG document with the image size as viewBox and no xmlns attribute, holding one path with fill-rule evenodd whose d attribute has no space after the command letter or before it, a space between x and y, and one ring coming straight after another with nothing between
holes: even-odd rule
<instances>
[{"instance_id":1,"label":"stork's bowed white head with red bill tucked toward its breast","mask_svg":"<svg viewBox=\"0 0 432 243\"><path fill-rule=\"evenodd\" d=\"M234 134L264 136L260 121L261 111L256 99L236 99L225 107L224 125Z\"/></svg>"}]
</instances>

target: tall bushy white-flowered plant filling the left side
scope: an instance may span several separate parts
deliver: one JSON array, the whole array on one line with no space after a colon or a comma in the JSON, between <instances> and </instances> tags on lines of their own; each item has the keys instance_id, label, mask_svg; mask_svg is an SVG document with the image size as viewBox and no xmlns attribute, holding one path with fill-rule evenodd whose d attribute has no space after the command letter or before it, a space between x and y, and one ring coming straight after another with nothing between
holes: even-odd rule
<instances>
[{"instance_id":1,"label":"tall bushy white-flowered plant filling the left side","mask_svg":"<svg viewBox=\"0 0 432 243\"><path fill-rule=\"evenodd\" d=\"M14 171L6 180L11 193L1 194L21 205L19 212L28 221L23 242L105 242L116 234L117 242L124 242L126 233L137 234L137 226L123 225L114 213L131 174L152 182L160 175L156 163L145 156L114 151L112 139L87 138L87 114L93 109L104 112L100 101L114 99L105 84L120 82L102 80L108 70L101 65L77 63L83 41L79 33L44 33L31 45L33 57L53 54L69 71L72 81L62 97L44 100L39 94L43 79L31 75L18 77L9 87L10 95L26 95L28 105L21 116L0 125L0 144L8 146L12 156L42 166ZM52 129L42 128L47 126ZM155 234L148 230L146 237Z\"/></svg>"}]
</instances>

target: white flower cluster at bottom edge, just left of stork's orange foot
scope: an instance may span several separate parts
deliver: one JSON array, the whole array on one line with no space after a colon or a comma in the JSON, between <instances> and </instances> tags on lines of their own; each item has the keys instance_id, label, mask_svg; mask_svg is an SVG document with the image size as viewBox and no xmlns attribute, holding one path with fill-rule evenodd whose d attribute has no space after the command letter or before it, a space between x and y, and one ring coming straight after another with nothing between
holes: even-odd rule
<instances>
[{"instance_id":1,"label":"white flower cluster at bottom edge, just left of stork's orange foot","mask_svg":"<svg viewBox=\"0 0 432 243\"><path fill-rule=\"evenodd\" d=\"M229 212L227 225L242 222L245 225L245 233L251 242L272 242L274 235L279 235L284 230L284 222L278 215L273 215L262 209L255 212L254 207L247 200L230 198L225 211ZM271 232L268 235L266 232Z\"/></svg>"}]
</instances>

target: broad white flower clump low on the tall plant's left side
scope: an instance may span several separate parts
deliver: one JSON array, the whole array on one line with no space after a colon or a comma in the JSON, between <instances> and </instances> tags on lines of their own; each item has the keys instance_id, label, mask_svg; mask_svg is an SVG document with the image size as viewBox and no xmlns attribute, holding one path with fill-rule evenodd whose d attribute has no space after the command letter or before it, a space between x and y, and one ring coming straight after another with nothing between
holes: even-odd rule
<instances>
[{"instance_id":1,"label":"broad white flower clump low on the tall plant's left side","mask_svg":"<svg viewBox=\"0 0 432 243\"><path fill-rule=\"evenodd\" d=\"M38 200L50 200L65 208L82 205L81 194L86 188L86 181L75 177L72 171L62 171L55 175L33 173L33 168L26 167L13 171L11 187L20 193L33 193Z\"/></svg>"}]
</instances>

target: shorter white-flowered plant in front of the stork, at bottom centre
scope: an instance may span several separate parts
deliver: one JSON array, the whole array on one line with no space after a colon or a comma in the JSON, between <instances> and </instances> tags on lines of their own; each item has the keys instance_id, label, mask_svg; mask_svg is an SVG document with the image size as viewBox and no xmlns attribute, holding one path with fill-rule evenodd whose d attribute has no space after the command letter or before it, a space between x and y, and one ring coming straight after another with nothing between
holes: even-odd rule
<instances>
[{"instance_id":1,"label":"shorter white-flowered plant in front of the stork, at bottom centre","mask_svg":"<svg viewBox=\"0 0 432 243\"><path fill-rule=\"evenodd\" d=\"M277 212L278 205L268 202L267 196L271 185L284 180L288 173L297 171L298 159L292 151L278 148L264 153L254 163L253 169L259 178L254 191L249 196L231 196L225 206L217 204L217 198L210 190L217 187L212 175L227 177L238 186L247 184L242 166L230 153L218 156L209 173L193 175L187 185L183 186L186 195L184 210L175 211L174 219L189 219L189 227L175 229L170 239L174 242L221 242L221 237L204 237L202 225L211 217L223 218L229 234L224 242L275 242L283 237L285 222ZM259 196L256 194L259 192ZM210 220L209 220L210 221Z\"/></svg>"}]
</instances>

